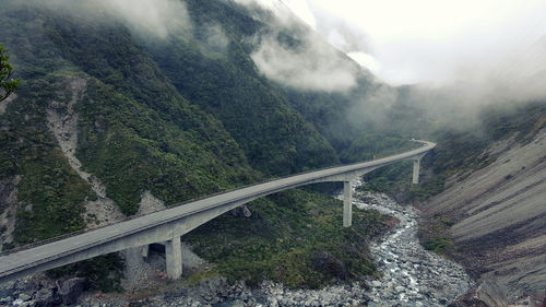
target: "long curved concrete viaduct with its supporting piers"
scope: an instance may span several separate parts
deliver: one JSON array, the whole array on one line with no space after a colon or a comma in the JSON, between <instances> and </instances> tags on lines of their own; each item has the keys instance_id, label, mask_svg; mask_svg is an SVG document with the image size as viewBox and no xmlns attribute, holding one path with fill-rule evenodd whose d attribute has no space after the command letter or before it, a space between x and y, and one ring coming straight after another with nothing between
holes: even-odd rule
<instances>
[{"instance_id":1,"label":"long curved concrete viaduct with its supporting piers","mask_svg":"<svg viewBox=\"0 0 546 307\"><path fill-rule=\"evenodd\" d=\"M147 251L149 245L155 243L165 244L167 275L171 279L178 279L182 274L180 243L182 235L254 199L318 182L344 182L343 226L351 227L351 181L378 167L403 160L412 160L414 161L413 184L418 184L419 162L436 144L427 141L416 142L424 145L384 158L308 172L244 187L9 253L0 257L0 282L128 248L144 247L144 250Z\"/></svg>"}]
</instances>

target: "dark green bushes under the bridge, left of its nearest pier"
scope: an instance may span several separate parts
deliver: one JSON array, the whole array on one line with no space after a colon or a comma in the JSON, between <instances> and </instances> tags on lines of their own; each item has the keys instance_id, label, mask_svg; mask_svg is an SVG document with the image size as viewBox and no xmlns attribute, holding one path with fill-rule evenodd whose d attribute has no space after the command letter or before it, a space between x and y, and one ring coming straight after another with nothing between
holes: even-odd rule
<instances>
[{"instance_id":1,"label":"dark green bushes under the bridge, left of its nearest pier","mask_svg":"<svg viewBox=\"0 0 546 307\"><path fill-rule=\"evenodd\" d=\"M117 252L98 256L46 272L50 279L83 278L91 288L103 292L121 292L123 259Z\"/></svg>"}]
</instances>

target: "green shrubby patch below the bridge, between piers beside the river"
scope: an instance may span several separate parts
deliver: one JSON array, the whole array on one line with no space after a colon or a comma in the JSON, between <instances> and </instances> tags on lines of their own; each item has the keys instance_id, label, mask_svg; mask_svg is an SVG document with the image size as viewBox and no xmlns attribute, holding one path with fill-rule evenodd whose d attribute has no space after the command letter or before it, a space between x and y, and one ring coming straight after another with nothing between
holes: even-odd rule
<instances>
[{"instance_id":1,"label":"green shrubby patch below the bridge, between piers beside the river","mask_svg":"<svg viewBox=\"0 0 546 307\"><path fill-rule=\"evenodd\" d=\"M344 228L342 206L331 197L290 190L250 203L250 219L226 214L185 240L230 281L274 280L293 287L320 287L335 279L332 272L314 268L316 256L322 251L345 264L349 280L376 271L366 243L387 228L385 217L355 211L354 226Z\"/></svg>"}]
</instances>

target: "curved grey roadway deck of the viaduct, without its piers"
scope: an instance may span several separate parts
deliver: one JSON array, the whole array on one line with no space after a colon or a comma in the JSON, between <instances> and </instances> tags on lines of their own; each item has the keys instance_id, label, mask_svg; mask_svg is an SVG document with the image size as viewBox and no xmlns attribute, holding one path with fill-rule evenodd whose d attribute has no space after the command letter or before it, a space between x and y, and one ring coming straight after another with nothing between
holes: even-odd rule
<instances>
[{"instance_id":1,"label":"curved grey roadway deck of the viaduct, without its piers","mask_svg":"<svg viewBox=\"0 0 546 307\"><path fill-rule=\"evenodd\" d=\"M109 241L114 240L119 240L120 238L128 237L140 232L156 228L158 226L166 225L211 209L216 209L226 204L234 203L238 203L237 205L240 205L241 203L257 198L304 185L321 181L337 181L329 180L328 178L343 176L345 174L355 174L355 172L361 172L363 169L375 169L377 167L381 167L383 165L388 165L402 160L419 158L429 150L436 146L436 143L432 142L417 142L424 143L425 145L416 150L384 158L337 167L330 167L244 187L234 191L204 198L186 203L183 205L154 212L144 216L135 217L133 220L120 222L118 224L93 229L87 233L75 235L66 239L0 257L0 282L13 278L12 275L20 276L23 272L26 272L33 267L52 262L56 259L62 257L70 257L70 255L72 253L82 251L84 252L85 250L92 249L96 246L108 244Z\"/></svg>"}]
</instances>

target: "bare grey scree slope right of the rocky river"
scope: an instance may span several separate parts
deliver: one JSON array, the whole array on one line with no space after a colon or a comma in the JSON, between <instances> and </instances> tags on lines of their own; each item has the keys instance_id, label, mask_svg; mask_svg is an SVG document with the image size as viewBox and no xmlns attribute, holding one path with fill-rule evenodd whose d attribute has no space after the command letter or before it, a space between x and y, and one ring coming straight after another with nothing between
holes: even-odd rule
<instances>
[{"instance_id":1,"label":"bare grey scree slope right of the rocky river","mask_svg":"<svg viewBox=\"0 0 546 307\"><path fill-rule=\"evenodd\" d=\"M496 162L452 181L424 205L456 223L456 257L479 280L495 281L511 298L546 291L546 129L532 142L515 138L484 154Z\"/></svg>"}]
</instances>

